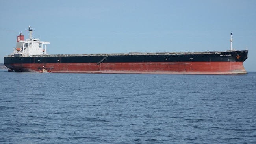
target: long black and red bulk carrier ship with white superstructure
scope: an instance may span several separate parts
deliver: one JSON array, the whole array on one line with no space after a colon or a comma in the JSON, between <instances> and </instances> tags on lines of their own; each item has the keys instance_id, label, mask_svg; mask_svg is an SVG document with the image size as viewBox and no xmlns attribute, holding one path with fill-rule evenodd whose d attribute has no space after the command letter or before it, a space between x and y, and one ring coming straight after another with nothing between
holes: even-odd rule
<instances>
[{"instance_id":1,"label":"long black and red bulk carrier ship with white superstructure","mask_svg":"<svg viewBox=\"0 0 256 144\"><path fill-rule=\"evenodd\" d=\"M24 39L20 33L13 53L4 57L9 72L124 74L246 74L248 50L226 52L155 52L118 54L47 54L50 42Z\"/></svg>"}]
</instances>

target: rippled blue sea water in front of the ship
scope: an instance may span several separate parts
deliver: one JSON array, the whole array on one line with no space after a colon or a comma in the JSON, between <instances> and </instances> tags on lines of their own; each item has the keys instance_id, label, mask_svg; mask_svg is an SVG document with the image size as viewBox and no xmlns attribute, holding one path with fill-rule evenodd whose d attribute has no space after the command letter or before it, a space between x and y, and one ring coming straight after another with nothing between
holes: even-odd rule
<instances>
[{"instance_id":1,"label":"rippled blue sea water in front of the ship","mask_svg":"<svg viewBox=\"0 0 256 144\"><path fill-rule=\"evenodd\" d=\"M255 144L256 72L0 70L1 144Z\"/></svg>"}]
</instances>

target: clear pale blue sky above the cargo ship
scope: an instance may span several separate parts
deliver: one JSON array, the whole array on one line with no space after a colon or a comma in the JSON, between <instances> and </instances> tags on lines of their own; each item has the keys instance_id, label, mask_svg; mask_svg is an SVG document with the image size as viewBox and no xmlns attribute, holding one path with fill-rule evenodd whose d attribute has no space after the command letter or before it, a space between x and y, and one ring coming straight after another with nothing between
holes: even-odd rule
<instances>
[{"instance_id":1,"label":"clear pale blue sky above the cargo ship","mask_svg":"<svg viewBox=\"0 0 256 144\"><path fill-rule=\"evenodd\" d=\"M255 0L1 0L0 63L19 33L49 54L249 50L256 71Z\"/></svg>"}]
</instances>

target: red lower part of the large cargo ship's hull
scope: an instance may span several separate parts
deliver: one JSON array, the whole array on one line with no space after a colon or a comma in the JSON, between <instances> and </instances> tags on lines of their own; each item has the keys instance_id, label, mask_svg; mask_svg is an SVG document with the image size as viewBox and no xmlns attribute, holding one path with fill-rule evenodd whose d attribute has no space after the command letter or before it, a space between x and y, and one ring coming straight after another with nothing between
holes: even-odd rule
<instances>
[{"instance_id":1,"label":"red lower part of the large cargo ship's hull","mask_svg":"<svg viewBox=\"0 0 256 144\"><path fill-rule=\"evenodd\" d=\"M122 73L122 74L246 74L243 62L143 62L143 63L13 63L15 71L52 73Z\"/></svg>"}]
</instances>

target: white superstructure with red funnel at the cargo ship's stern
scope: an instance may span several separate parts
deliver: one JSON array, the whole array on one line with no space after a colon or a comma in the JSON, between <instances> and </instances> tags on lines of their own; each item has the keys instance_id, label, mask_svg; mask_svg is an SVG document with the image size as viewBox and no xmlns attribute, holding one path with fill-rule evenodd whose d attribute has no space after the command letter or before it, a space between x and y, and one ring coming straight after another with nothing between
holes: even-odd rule
<instances>
[{"instance_id":1,"label":"white superstructure with red funnel at the cargo ship's stern","mask_svg":"<svg viewBox=\"0 0 256 144\"><path fill-rule=\"evenodd\" d=\"M12 56L29 57L32 55L47 55L46 45L50 44L50 42L40 41L40 39L33 39L33 29L30 28L30 26L28 27L28 31L30 31L30 37L27 40L24 40L24 35L22 35L22 33L17 36L17 44L16 48L13 50ZM43 45L45 45L44 48Z\"/></svg>"}]
</instances>

